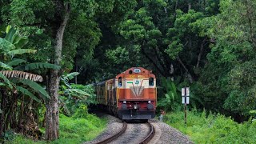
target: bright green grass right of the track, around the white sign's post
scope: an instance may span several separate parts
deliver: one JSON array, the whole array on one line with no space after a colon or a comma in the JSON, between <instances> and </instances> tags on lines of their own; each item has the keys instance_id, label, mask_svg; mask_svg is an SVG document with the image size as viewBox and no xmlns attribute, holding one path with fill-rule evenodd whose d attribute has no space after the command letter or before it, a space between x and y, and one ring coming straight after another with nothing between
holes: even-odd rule
<instances>
[{"instance_id":1,"label":"bright green grass right of the track, around the white sign's post","mask_svg":"<svg viewBox=\"0 0 256 144\"><path fill-rule=\"evenodd\" d=\"M195 143L254 143L256 142L256 121L237 123L221 114L187 113L187 125L184 113L166 114L164 121L187 134Z\"/></svg>"}]
</instances>

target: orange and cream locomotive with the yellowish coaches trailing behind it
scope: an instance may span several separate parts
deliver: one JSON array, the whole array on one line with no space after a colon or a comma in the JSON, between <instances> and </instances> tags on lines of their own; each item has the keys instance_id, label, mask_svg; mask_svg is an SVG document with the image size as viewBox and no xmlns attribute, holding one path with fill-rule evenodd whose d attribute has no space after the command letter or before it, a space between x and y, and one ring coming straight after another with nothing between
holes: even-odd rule
<instances>
[{"instance_id":1,"label":"orange and cream locomotive with the yellowish coaches trailing behind it","mask_svg":"<svg viewBox=\"0 0 256 144\"><path fill-rule=\"evenodd\" d=\"M96 84L97 101L118 118L150 119L155 116L157 87L154 74L132 67L115 78Z\"/></svg>"}]
</instances>

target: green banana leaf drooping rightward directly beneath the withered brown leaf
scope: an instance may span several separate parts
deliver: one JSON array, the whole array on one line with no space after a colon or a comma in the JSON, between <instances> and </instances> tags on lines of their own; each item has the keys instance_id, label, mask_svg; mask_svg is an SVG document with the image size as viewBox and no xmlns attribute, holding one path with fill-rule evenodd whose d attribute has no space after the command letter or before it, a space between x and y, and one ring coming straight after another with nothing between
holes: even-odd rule
<instances>
[{"instance_id":1,"label":"green banana leaf drooping rightward directly beneath the withered brown leaf","mask_svg":"<svg viewBox=\"0 0 256 144\"><path fill-rule=\"evenodd\" d=\"M37 82L30 81L28 79L16 79L17 82L21 82L26 86L30 86L31 89L36 92L42 94L43 98L50 98L50 95L42 88L42 86L38 85Z\"/></svg>"}]
</instances>

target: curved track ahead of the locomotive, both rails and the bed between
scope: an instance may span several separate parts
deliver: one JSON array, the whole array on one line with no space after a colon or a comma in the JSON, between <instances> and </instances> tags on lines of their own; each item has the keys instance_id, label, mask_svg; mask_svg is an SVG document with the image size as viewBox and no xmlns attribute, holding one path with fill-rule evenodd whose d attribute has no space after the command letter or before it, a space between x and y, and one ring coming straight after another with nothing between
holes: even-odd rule
<instances>
[{"instance_id":1,"label":"curved track ahead of the locomotive, both rails and the bed between","mask_svg":"<svg viewBox=\"0 0 256 144\"><path fill-rule=\"evenodd\" d=\"M106 143L139 143L144 144L150 142L154 137L154 126L147 123L129 123L123 122L122 129L117 134L98 142L98 144Z\"/></svg>"}]
</instances>

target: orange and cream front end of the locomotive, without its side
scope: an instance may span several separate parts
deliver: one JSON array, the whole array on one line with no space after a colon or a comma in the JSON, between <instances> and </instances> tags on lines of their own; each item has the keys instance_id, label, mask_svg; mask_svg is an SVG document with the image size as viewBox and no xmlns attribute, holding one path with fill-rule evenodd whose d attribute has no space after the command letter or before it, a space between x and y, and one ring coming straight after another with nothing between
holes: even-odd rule
<instances>
[{"instance_id":1,"label":"orange and cream front end of the locomotive, without its side","mask_svg":"<svg viewBox=\"0 0 256 144\"><path fill-rule=\"evenodd\" d=\"M150 119L157 106L156 79L151 71L133 67L114 78L117 94L118 117Z\"/></svg>"}]
</instances>

